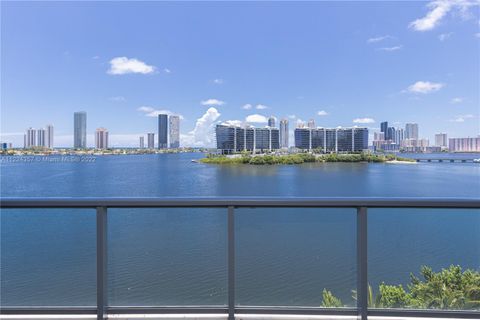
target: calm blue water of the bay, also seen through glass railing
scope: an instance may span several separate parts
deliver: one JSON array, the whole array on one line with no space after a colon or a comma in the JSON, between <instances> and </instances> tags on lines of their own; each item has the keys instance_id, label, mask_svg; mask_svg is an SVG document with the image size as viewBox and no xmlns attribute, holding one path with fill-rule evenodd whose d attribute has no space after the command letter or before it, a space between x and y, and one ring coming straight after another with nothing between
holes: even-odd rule
<instances>
[{"instance_id":1,"label":"calm blue water of the bay, also seen through glass railing","mask_svg":"<svg viewBox=\"0 0 480 320\"><path fill-rule=\"evenodd\" d=\"M201 154L2 161L2 197L468 197L475 163L215 166ZM472 155L455 155L472 158ZM476 157L479 157L478 155ZM72 214L73 213L73 214ZM223 209L111 209L111 305L226 304ZM237 303L353 304L355 211L238 209ZM2 305L95 304L95 212L3 210ZM369 277L406 283L421 265L480 268L478 210L369 211Z\"/></svg>"}]
</instances>

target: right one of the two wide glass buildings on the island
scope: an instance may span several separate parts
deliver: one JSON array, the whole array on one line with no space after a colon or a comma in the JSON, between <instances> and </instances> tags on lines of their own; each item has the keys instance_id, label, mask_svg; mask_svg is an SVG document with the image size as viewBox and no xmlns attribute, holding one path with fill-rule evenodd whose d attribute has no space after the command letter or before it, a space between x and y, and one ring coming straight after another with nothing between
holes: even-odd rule
<instances>
[{"instance_id":1,"label":"right one of the two wide glass buildings on the island","mask_svg":"<svg viewBox=\"0 0 480 320\"><path fill-rule=\"evenodd\" d=\"M368 149L367 128L297 128L295 147L323 152L360 152Z\"/></svg>"}]
</instances>

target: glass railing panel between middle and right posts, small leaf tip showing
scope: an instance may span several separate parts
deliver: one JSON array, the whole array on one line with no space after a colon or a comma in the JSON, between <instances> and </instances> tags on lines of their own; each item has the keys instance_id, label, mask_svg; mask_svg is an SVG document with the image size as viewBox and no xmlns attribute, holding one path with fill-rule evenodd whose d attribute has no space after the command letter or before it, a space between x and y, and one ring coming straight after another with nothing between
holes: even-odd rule
<instances>
[{"instance_id":1,"label":"glass railing panel between middle and right posts, small leaf tip showing","mask_svg":"<svg viewBox=\"0 0 480 320\"><path fill-rule=\"evenodd\" d=\"M355 209L239 208L235 223L237 305L355 305Z\"/></svg>"}]
</instances>

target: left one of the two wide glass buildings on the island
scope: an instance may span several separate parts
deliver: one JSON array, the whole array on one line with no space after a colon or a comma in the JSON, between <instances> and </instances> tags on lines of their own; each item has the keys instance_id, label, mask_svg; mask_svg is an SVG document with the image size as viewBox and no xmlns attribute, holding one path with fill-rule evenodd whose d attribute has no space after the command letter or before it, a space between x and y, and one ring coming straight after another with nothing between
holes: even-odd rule
<instances>
[{"instance_id":1,"label":"left one of the two wide glass buildings on the island","mask_svg":"<svg viewBox=\"0 0 480 320\"><path fill-rule=\"evenodd\" d=\"M241 151L272 151L280 148L280 132L277 128L240 127L219 124L215 128L217 149L222 153Z\"/></svg>"}]
</instances>

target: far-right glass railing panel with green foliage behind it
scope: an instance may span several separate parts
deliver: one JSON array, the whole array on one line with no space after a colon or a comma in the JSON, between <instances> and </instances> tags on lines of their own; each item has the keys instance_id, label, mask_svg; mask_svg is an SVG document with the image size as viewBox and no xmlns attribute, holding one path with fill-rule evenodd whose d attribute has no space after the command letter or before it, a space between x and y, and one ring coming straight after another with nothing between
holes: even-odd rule
<instances>
[{"instance_id":1,"label":"far-right glass railing panel with green foliage behind it","mask_svg":"<svg viewBox=\"0 0 480 320\"><path fill-rule=\"evenodd\" d=\"M479 209L369 209L370 308L480 310Z\"/></svg>"}]
</instances>

